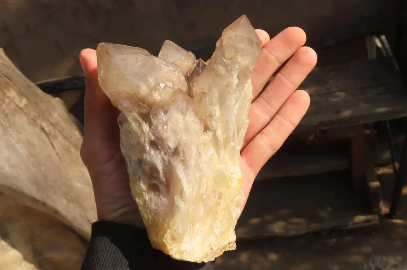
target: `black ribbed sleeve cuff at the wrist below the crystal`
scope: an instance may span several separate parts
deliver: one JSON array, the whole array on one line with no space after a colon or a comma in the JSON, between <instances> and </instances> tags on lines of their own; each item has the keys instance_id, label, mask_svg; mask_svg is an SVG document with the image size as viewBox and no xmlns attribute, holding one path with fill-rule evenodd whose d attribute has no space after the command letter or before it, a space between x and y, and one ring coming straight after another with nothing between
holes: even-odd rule
<instances>
[{"instance_id":1,"label":"black ribbed sleeve cuff at the wrist below the crystal","mask_svg":"<svg viewBox=\"0 0 407 270\"><path fill-rule=\"evenodd\" d=\"M213 270L212 263L191 263L171 259L151 247L145 229L98 221L81 270Z\"/></svg>"}]
</instances>

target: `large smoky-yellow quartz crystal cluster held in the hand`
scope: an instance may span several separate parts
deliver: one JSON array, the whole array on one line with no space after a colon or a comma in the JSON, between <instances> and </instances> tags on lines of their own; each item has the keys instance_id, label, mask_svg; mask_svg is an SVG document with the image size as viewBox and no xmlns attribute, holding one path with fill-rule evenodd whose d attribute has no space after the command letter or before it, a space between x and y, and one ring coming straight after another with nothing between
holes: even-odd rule
<instances>
[{"instance_id":1,"label":"large smoky-yellow quartz crystal cluster held in the hand","mask_svg":"<svg viewBox=\"0 0 407 270\"><path fill-rule=\"evenodd\" d=\"M153 247L210 261L236 248L244 200L240 150L261 41L246 16L208 61L165 41L147 50L101 43L99 84L120 111L131 192Z\"/></svg>"}]
</instances>

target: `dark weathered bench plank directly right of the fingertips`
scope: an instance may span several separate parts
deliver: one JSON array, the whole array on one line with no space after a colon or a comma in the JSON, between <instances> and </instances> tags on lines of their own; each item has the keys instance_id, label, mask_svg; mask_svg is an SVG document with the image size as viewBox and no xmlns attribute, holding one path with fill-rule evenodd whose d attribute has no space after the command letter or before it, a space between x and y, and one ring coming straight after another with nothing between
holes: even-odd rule
<instances>
[{"instance_id":1,"label":"dark weathered bench plank directly right of the fingertips","mask_svg":"<svg viewBox=\"0 0 407 270\"><path fill-rule=\"evenodd\" d=\"M407 116L407 90L386 59L315 68L300 89L311 105L296 133Z\"/></svg>"}]
</instances>

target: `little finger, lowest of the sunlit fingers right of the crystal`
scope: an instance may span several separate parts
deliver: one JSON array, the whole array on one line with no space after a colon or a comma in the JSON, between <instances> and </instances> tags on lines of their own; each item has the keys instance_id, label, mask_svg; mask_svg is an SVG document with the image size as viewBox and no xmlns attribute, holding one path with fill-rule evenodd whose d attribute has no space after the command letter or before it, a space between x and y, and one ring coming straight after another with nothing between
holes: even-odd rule
<instances>
[{"instance_id":1,"label":"little finger, lowest of the sunlit fingers right of the crystal","mask_svg":"<svg viewBox=\"0 0 407 270\"><path fill-rule=\"evenodd\" d=\"M242 159L252 172L252 179L249 179L243 187L247 194L260 169L298 125L309 107L309 102L308 93L302 90L295 91L273 120L243 150Z\"/></svg>"}]
</instances>

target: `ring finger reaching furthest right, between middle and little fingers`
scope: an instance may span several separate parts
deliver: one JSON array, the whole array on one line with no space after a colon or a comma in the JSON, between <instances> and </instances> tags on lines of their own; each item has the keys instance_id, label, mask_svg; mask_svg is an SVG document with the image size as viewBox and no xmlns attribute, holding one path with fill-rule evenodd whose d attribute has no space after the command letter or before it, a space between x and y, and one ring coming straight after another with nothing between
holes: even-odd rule
<instances>
[{"instance_id":1,"label":"ring finger reaching furthest right, between middle and little fingers","mask_svg":"<svg viewBox=\"0 0 407 270\"><path fill-rule=\"evenodd\" d=\"M313 70L316 63L317 54L313 49L302 47L295 52L263 93L252 103L243 147L270 122L287 98L298 89Z\"/></svg>"}]
</instances>

